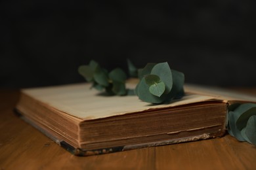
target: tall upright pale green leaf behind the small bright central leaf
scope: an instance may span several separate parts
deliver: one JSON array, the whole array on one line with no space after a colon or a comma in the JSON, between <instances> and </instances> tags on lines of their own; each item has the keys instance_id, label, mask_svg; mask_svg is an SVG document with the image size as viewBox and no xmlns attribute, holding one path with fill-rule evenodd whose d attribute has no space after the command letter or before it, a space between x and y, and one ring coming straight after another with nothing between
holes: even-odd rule
<instances>
[{"instance_id":1,"label":"tall upright pale green leaf behind the small bright central leaf","mask_svg":"<svg viewBox=\"0 0 256 170\"><path fill-rule=\"evenodd\" d=\"M165 84L165 93L171 92L171 88L173 87L173 76L171 74L171 69L167 62L158 63L154 65L151 75L158 75L162 82Z\"/></svg>"}]
</instances>

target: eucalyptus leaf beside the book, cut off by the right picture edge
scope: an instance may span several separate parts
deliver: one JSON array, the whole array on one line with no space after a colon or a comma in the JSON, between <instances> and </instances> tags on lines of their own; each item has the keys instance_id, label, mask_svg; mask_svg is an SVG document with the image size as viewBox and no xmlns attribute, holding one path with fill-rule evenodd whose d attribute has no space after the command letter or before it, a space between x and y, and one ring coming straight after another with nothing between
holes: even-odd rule
<instances>
[{"instance_id":1,"label":"eucalyptus leaf beside the book, cut off by the right picture edge","mask_svg":"<svg viewBox=\"0 0 256 170\"><path fill-rule=\"evenodd\" d=\"M250 143L256 145L256 116L250 116L245 129L245 135L249 139Z\"/></svg>"}]
</instances>

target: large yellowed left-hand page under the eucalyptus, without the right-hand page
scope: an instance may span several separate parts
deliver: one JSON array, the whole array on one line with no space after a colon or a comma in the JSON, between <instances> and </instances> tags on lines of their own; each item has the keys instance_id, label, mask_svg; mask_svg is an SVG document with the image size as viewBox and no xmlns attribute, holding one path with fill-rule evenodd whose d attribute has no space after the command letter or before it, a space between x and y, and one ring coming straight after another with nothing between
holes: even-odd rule
<instances>
[{"instance_id":1,"label":"large yellowed left-hand page under the eucalyptus, without the right-hand page","mask_svg":"<svg viewBox=\"0 0 256 170\"><path fill-rule=\"evenodd\" d=\"M134 84L127 84L127 86L128 88L135 88ZM83 120L106 118L148 109L175 107L214 99L214 97L208 95L188 94L181 100L168 105L152 105L140 101L136 95L104 96L90 87L91 84L83 83L32 88L23 90L23 92L54 109Z\"/></svg>"}]
</instances>

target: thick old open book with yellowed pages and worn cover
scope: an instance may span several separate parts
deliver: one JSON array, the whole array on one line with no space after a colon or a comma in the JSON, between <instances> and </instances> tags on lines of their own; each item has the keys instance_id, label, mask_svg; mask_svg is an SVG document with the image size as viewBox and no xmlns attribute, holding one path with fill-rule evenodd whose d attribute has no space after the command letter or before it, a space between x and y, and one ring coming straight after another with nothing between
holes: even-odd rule
<instances>
[{"instance_id":1,"label":"thick old open book with yellowed pages and worn cover","mask_svg":"<svg viewBox=\"0 0 256 170\"><path fill-rule=\"evenodd\" d=\"M136 95L106 96L90 87L24 89L16 110L72 154L89 156L221 137L229 103L256 102L256 97L185 86L182 99L152 105Z\"/></svg>"}]
</instances>

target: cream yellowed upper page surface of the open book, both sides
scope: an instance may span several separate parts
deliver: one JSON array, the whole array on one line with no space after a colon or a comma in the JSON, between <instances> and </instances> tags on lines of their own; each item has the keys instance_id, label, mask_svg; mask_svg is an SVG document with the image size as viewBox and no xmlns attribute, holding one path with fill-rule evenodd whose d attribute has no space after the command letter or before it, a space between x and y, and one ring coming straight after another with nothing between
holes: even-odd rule
<instances>
[{"instance_id":1,"label":"cream yellowed upper page surface of the open book, both sides","mask_svg":"<svg viewBox=\"0 0 256 170\"><path fill-rule=\"evenodd\" d=\"M134 88L134 84L128 84ZM131 112L143 112L150 109L163 109L177 107L190 103L216 100L232 104L236 102L254 102L256 97L240 93L228 92L219 88L204 88L202 86L185 85L186 95L182 99L173 101L167 105L152 105L140 101L137 96L106 96L103 93L91 89L91 84L69 84L47 88L32 88L22 90L37 101L49 105L53 109L64 112L81 120L95 120L129 114Z\"/></svg>"}]
</instances>

